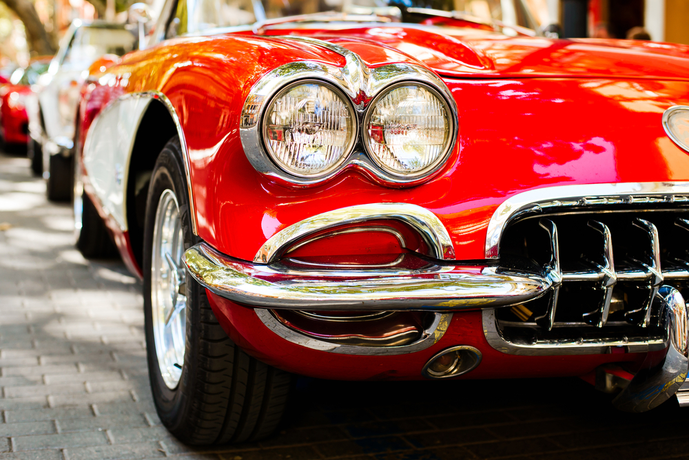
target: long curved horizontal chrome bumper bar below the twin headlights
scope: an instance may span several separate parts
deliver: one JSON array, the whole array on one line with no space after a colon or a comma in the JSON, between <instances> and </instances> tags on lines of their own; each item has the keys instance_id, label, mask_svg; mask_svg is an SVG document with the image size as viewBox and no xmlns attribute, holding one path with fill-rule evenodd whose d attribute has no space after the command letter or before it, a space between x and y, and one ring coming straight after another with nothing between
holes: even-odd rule
<instances>
[{"instance_id":1,"label":"long curved horizontal chrome bumper bar below the twin headlights","mask_svg":"<svg viewBox=\"0 0 689 460\"><path fill-rule=\"evenodd\" d=\"M189 273L209 291L263 309L309 311L459 311L522 304L551 280L400 255L389 264L313 264L285 258L271 264L238 260L205 243L184 255Z\"/></svg>"}]
</instances>

